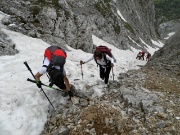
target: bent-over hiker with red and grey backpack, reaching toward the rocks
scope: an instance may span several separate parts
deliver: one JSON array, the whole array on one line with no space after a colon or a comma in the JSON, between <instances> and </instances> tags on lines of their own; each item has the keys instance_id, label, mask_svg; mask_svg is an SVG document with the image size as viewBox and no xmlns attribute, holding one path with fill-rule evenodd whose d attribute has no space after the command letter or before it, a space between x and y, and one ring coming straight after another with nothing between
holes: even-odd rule
<instances>
[{"instance_id":1,"label":"bent-over hiker with red and grey backpack, reaching toward the rocks","mask_svg":"<svg viewBox=\"0 0 180 135\"><path fill-rule=\"evenodd\" d=\"M49 74L50 84L52 87L55 84L60 89L64 90L69 97L73 97L73 93L70 90L71 86L69 80L66 76L66 71L64 69L64 64L66 61L66 53L58 46L50 46L45 50L43 66L36 73L35 78L38 83L37 86L41 88L40 77L46 72Z\"/></svg>"}]
</instances>

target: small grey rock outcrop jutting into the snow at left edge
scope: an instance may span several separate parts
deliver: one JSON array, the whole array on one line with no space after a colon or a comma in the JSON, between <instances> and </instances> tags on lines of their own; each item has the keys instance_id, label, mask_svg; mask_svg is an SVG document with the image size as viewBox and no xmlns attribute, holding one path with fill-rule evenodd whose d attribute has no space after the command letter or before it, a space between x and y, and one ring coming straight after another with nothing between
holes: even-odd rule
<instances>
[{"instance_id":1,"label":"small grey rock outcrop jutting into the snow at left edge","mask_svg":"<svg viewBox=\"0 0 180 135\"><path fill-rule=\"evenodd\" d=\"M14 55L16 53L18 53L18 51L15 49L15 44L0 30L0 56Z\"/></svg>"}]
</instances>

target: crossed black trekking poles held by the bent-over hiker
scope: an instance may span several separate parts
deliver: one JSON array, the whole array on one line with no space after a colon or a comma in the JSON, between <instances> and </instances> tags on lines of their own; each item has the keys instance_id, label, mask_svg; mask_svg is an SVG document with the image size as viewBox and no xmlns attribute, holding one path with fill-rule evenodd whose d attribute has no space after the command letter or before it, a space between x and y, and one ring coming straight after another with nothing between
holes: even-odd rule
<instances>
[{"instance_id":1,"label":"crossed black trekking poles held by the bent-over hiker","mask_svg":"<svg viewBox=\"0 0 180 135\"><path fill-rule=\"evenodd\" d=\"M34 78L34 80L31 80L31 79L28 78L27 81L38 84L38 81L37 81L37 79L35 78L35 76L34 76L32 70L31 70L31 68L30 68L29 65L28 65L28 63L25 61L24 64L25 64L25 66L27 67L27 69L30 71L31 75L32 75L33 78ZM45 86L45 87L48 87L48 88L51 88L51 89L54 89L54 90L58 90L58 91L65 92L65 91L63 91L63 90L61 90L61 89L54 88L54 87L52 87L52 86L49 86L49 85L46 85L46 84L43 84L43 83L41 83L41 85L43 85L43 86ZM53 107L53 109L56 110L55 107L53 106L52 102L50 101L50 99L48 98L48 96L46 95L46 93L44 92L43 88L41 87L40 89L42 90L42 92L43 92L44 95L46 96L47 100L49 101L49 103L51 104L51 106ZM83 98L83 99L86 99L87 101L89 101L89 98L81 97L81 96L78 96L78 95L74 95L74 96L79 97L79 98Z\"/></svg>"}]
</instances>

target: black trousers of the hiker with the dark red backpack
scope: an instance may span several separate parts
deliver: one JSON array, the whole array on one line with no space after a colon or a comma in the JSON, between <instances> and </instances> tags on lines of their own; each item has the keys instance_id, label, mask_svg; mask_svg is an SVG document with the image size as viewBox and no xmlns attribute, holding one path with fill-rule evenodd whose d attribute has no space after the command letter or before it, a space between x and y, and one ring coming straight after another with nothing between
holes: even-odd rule
<instances>
[{"instance_id":1,"label":"black trousers of the hiker with the dark red backpack","mask_svg":"<svg viewBox=\"0 0 180 135\"><path fill-rule=\"evenodd\" d=\"M105 84L108 84L111 66L107 66L106 68L99 66L99 69L100 69L100 78L104 80Z\"/></svg>"}]
</instances>

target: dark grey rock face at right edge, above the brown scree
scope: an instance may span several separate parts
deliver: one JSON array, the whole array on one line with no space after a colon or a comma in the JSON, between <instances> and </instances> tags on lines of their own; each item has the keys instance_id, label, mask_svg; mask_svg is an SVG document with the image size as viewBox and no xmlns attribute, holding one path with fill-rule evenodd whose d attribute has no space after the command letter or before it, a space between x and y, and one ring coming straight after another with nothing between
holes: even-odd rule
<instances>
[{"instance_id":1,"label":"dark grey rock face at right edge, above the brown scree","mask_svg":"<svg viewBox=\"0 0 180 135\"><path fill-rule=\"evenodd\" d=\"M180 76L180 27L178 31L166 41L164 47L156 51L147 66L170 71Z\"/></svg>"}]
</instances>

